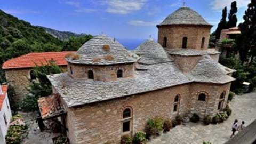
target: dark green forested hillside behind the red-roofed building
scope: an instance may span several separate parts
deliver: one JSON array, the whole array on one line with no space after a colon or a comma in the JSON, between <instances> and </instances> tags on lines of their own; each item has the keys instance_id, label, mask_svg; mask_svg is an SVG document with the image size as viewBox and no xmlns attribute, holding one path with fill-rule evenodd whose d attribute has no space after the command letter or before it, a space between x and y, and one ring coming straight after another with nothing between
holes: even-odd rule
<instances>
[{"instance_id":1,"label":"dark green forested hillside behind the red-roofed building","mask_svg":"<svg viewBox=\"0 0 256 144\"><path fill-rule=\"evenodd\" d=\"M91 35L84 34L81 37L70 37L68 41L61 41L43 28L33 26L0 10L0 83L5 81L1 68L6 60L29 52L77 51L91 38Z\"/></svg>"}]
</instances>

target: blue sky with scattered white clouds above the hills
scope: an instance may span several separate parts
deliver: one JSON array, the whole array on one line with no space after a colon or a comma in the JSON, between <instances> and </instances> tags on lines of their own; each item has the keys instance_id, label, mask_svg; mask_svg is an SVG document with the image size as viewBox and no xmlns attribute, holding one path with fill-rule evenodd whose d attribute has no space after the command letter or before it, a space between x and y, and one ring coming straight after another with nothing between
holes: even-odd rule
<instances>
[{"instance_id":1,"label":"blue sky with scattered white clouds above the hills","mask_svg":"<svg viewBox=\"0 0 256 144\"><path fill-rule=\"evenodd\" d=\"M156 25L185 5L211 25L221 19L223 7L233 0L0 0L0 9L32 25L60 31L99 35L117 39L157 39ZM238 22L250 0L237 0Z\"/></svg>"}]
</instances>

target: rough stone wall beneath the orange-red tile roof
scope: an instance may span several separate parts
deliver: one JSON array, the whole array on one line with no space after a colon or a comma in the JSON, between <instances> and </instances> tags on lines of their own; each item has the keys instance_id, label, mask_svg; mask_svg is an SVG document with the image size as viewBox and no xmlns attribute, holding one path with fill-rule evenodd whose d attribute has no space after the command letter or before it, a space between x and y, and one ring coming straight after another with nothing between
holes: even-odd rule
<instances>
[{"instance_id":1,"label":"rough stone wall beneath the orange-red tile roof","mask_svg":"<svg viewBox=\"0 0 256 144\"><path fill-rule=\"evenodd\" d=\"M16 95L15 102L21 102L28 94L28 85L30 83L30 70L32 68L6 69L5 76L8 84L12 85ZM64 71L66 66L62 66Z\"/></svg>"}]
</instances>

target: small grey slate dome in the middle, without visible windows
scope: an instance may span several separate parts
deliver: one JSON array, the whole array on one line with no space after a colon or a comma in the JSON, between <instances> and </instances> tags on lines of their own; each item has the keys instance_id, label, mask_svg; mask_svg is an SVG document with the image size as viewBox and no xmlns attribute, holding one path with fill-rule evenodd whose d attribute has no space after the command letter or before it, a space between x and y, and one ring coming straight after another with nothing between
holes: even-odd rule
<instances>
[{"instance_id":1,"label":"small grey slate dome in the middle, without visible windows","mask_svg":"<svg viewBox=\"0 0 256 144\"><path fill-rule=\"evenodd\" d=\"M139 63L143 64L151 65L171 61L163 47L153 39L143 42L134 50L134 53L141 57Z\"/></svg>"}]
</instances>

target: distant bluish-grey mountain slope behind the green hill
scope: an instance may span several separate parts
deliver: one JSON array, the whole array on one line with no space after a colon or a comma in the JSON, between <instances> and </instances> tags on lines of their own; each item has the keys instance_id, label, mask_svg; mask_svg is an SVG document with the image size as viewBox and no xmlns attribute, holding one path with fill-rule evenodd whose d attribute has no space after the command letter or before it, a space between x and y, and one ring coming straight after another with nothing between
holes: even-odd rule
<instances>
[{"instance_id":1,"label":"distant bluish-grey mountain slope behind the green hill","mask_svg":"<svg viewBox=\"0 0 256 144\"><path fill-rule=\"evenodd\" d=\"M51 34L55 38L58 38L62 41L68 41L70 37L81 37L86 35L86 34L76 34L70 31L59 31L51 28L42 27L42 26L38 26L38 27L43 28L48 34Z\"/></svg>"}]
</instances>

